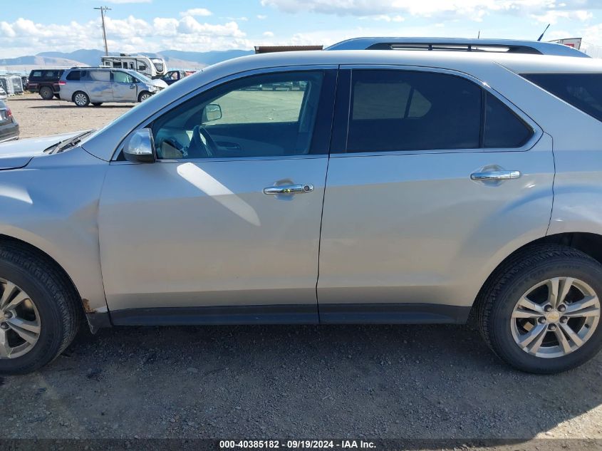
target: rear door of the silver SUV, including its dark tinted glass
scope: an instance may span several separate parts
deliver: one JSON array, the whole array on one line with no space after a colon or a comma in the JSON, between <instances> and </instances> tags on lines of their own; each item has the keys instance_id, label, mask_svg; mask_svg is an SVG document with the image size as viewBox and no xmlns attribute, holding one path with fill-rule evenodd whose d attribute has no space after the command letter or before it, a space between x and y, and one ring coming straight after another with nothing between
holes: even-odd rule
<instances>
[{"instance_id":1,"label":"rear door of the silver SUV, including its dark tinted glass","mask_svg":"<svg viewBox=\"0 0 602 451\"><path fill-rule=\"evenodd\" d=\"M460 73L346 68L339 80L321 321L464 321L491 262L546 233L551 138Z\"/></svg>"}]
</instances>

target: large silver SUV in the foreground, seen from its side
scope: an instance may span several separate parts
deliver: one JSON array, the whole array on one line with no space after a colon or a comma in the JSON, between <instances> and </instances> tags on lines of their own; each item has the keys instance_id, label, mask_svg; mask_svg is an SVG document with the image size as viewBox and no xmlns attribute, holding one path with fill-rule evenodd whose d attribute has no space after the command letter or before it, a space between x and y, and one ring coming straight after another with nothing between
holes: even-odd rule
<instances>
[{"instance_id":1,"label":"large silver SUV in the foreground, seen from its side","mask_svg":"<svg viewBox=\"0 0 602 451\"><path fill-rule=\"evenodd\" d=\"M474 313L515 368L588 361L602 61L508 48L247 56L102 130L4 145L0 371L51 361L83 315L97 331ZM239 92L275 83L304 90Z\"/></svg>"}]
</instances>

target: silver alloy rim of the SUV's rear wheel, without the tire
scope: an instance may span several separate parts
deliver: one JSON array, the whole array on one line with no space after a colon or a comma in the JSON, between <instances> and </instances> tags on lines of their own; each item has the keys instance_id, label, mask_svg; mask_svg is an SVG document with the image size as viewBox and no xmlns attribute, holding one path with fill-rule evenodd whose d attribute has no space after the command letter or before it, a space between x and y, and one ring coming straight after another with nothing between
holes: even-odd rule
<instances>
[{"instance_id":1,"label":"silver alloy rim of the SUV's rear wheel, without the tire","mask_svg":"<svg viewBox=\"0 0 602 451\"><path fill-rule=\"evenodd\" d=\"M576 351L596 331L600 301L585 282L554 277L536 284L512 311L512 337L532 356L555 358Z\"/></svg>"}]
</instances>

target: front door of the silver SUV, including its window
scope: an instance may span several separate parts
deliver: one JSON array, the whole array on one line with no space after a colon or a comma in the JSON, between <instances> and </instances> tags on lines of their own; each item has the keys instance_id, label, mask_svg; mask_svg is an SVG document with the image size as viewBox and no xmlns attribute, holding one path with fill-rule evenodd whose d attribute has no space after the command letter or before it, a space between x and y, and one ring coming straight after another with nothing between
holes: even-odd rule
<instances>
[{"instance_id":1,"label":"front door of the silver SUV, including its window","mask_svg":"<svg viewBox=\"0 0 602 451\"><path fill-rule=\"evenodd\" d=\"M257 88L281 81L301 87ZM150 124L157 162L111 163L99 228L115 323L318 320L334 83L315 70L218 85Z\"/></svg>"}]
</instances>

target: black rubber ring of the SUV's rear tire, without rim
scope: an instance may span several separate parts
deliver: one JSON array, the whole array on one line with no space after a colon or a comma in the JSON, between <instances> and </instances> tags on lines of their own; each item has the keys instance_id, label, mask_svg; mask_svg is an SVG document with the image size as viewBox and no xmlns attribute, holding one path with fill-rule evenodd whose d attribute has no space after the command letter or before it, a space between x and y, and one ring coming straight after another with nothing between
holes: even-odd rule
<instances>
[{"instance_id":1,"label":"black rubber ring of the SUV's rear tire, without rim","mask_svg":"<svg viewBox=\"0 0 602 451\"><path fill-rule=\"evenodd\" d=\"M564 356L534 356L514 341L510 324L520 297L539 282L562 276L585 282L602 299L602 265L577 249L556 244L538 244L518 252L481 290L476 303L481 334L489 348L514 368L536 374L561 373L586 363L602 348L602 323L580 348Z\"/></svg>"}]
</instances>

